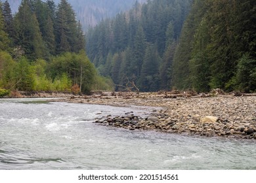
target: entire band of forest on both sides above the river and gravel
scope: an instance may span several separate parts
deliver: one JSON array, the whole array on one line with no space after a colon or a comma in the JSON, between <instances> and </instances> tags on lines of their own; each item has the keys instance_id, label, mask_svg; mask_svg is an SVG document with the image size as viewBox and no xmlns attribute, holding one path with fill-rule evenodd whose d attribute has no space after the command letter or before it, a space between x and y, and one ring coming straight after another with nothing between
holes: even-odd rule
<instances>
[{"instance_id":1,"label":"entire band of forest on both sides above the river and gravel","mask_svg":"<svg viewBox=\"0 0 256 183\"><path fill-rule=\"evenodd\" d=\"M84 33L67 0L0 8L0 97L88 93L256 92L256 1L148 0Z\"/></svg>"}]
</instances>

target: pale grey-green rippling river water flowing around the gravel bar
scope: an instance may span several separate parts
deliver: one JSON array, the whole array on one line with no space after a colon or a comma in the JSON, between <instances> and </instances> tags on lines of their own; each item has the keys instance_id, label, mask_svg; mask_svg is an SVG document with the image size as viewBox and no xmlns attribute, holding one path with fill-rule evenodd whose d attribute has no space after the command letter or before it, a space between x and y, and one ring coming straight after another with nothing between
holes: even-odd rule
<instances>
[{"instance_id":1,"label":"pale grey-green rippling river water flowing around the gravel bar","mask_svg":"<svg viewBox=\"0 0 256 183\"><path fill-rule=\"evenodd\" d=\"M0 169L256 169L256 143L96 125L121 108L0 99Z\"/></svg>"}]
</instances>

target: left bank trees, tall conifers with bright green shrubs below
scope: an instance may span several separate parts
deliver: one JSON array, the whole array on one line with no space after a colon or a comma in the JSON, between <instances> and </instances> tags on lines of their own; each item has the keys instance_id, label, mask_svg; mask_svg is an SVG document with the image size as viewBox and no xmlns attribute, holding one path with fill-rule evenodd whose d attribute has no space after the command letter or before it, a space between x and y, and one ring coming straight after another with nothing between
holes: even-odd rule
<instances>
[{"instance_id":1,"label":"left bank trees, tall conifers with bright green shrubs below","mask_svg":"<svg viewBox=\"0 0 256 183\"><path fill-rule=\"evenodd\" d=\"M68 1L22 0L14 16L8 1L0 6L0 88L111 88L85 54L85 35Z\"/></svg>"}]
</instances>

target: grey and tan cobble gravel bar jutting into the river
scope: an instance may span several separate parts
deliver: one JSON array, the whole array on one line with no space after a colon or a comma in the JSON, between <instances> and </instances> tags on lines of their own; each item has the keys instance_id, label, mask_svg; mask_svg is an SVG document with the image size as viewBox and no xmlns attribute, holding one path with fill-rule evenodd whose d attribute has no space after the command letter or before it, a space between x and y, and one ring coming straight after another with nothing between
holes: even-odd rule
<instances>
[{"instance_id":1,"label":"grey and tan cobble gravel bar jutting into the river","mask_svg":"<svg viewBox=\"0 0 256 183\"><path fill-rule=\"evenodd\" d=\"M256 97L234 95L173 95L160 93L136 95L85 96L68 102L113 105L119 107L156 107L142 118L133 112L123 116L95 119L99 125L130 130L154 130L165 133L256 139ZM159 109L161 107L161 109Z\"/></svg>"}]
</instances>

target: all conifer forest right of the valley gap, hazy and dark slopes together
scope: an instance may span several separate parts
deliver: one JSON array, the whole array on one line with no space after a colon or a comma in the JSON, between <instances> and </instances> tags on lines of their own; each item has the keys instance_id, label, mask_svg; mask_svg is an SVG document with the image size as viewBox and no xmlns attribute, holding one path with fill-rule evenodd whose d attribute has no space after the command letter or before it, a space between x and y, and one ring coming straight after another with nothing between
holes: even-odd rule
<instances>
[{"instance_id":1,"label":"all conifer forest right of the valley gap, hazy and dark slopes together","mask_svg":"<svg viewBox=\"0 0 256 183\"><path fill-rule=\"evenodd\" d=\"M253 0L135 4L87 33L87 54L116 90L255 92Z\"/></svg>"}]
</instances>

